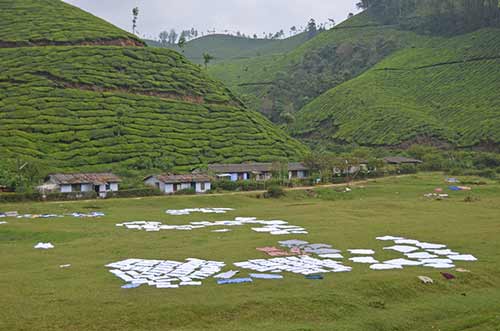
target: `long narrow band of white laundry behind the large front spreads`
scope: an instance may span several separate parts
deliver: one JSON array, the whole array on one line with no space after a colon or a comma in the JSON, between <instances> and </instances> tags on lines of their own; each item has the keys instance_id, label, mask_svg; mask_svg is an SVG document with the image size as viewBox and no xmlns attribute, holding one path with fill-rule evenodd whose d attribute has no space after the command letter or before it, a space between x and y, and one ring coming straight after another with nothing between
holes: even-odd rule
<instances>
[{"instance_id":1,"label":"long narrow band of white laundry behind the large front spreads","mask_svg":"<svg viewBox=\"0 0 500 331\"><path fill-rule=\"evenodd\" d=\"M185 225L170 225L163 224L162 222L155 221L137 221L137 222L124 222L116 224L117 227L125 227L127 229L142 230L147 232L158 232L162 230L180 230L180 231L192 231L195 229L203 229L209 227L231 227L231 226L243 226L243 225L263 225L263 227L252 228L255 232L269 233L271 235L287 235L287 234L307 234L306 229L290 225L286 221L282 220L258 220L256 217L235 217L231 221L200 221L200 222L190 222ZM213 232L228 232L229 229L218 229Z\"/></svg>"}]
</instances>

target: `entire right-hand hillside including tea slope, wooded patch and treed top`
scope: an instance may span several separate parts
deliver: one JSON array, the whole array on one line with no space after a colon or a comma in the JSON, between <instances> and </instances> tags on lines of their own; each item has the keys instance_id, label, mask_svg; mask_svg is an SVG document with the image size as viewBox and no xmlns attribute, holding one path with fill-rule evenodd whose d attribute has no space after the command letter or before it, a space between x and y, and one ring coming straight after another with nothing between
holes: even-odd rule
<instances>
[{"instance_id":1,"label":"entire right-hand hillside including tea slope, wooded patch and treed top","mask_svg":"<svg viewBox=\"0 0 500 331\"><path fill-rule=\"evenodd\" d=\"M310 145L498 145L493 2L373 3L290 52L224 61L210 73Z\"/></svg>"}]
</instances>

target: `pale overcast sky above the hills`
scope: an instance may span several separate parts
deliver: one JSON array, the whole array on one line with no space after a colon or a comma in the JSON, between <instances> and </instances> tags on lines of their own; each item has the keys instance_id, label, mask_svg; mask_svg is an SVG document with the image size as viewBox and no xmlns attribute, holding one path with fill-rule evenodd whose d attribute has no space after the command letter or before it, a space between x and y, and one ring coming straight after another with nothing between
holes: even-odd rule
<instances>
[{"instance_id":1,"label":"pale overcast sky above the hills","mask_svg":"<svg viewBox=\"0 0 500 331\"><path fill-rule=\"evenodd\" d=\"M288 32L304 26L312 17L318 23L329 18L340 22L356 12L357 0L65 0L125 30L132 29L132 8L140 9L141 37L157 39L159 32L194 27L245 34Z\"/></svg>"}]
</instances>

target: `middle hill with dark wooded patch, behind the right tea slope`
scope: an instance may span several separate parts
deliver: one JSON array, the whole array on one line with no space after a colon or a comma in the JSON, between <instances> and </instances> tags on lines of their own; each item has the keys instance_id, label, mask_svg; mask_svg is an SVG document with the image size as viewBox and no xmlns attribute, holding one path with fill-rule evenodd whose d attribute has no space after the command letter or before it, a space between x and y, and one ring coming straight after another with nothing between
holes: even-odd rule
<instances>
[{"instance_id":1,"label":"middle hill with dark wooded patch, behind the right tea slope","mask_svg":"<svg viewBox=\"0 0 500 331\"><path fill-rule=\"evenodd\" d=\"M274 122L286 123L317 96L356 77L387 55L426 37L381 25L366 13L319 33L293 50L210 67L247 102Z\"/></svg>"}]
</instances>

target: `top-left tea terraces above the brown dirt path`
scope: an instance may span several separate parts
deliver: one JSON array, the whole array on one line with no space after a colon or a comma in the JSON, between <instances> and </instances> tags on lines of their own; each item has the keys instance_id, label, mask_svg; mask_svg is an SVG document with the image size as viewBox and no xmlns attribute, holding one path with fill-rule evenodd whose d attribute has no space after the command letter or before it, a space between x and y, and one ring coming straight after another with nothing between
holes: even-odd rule
<instances>
[{"instance_id":1,"label":"top-left tea terraces above the brown dirt path","mask_svg":"<svg viewBox=\"0 0 500 331\"><path fill-rule=\"evenodd\" d=\"M0 0L0 41L83 42L134 35L60 0Z\"/></svg>"}]
</instances>

